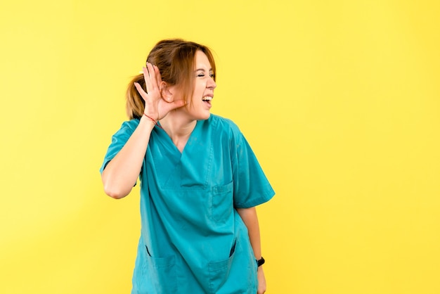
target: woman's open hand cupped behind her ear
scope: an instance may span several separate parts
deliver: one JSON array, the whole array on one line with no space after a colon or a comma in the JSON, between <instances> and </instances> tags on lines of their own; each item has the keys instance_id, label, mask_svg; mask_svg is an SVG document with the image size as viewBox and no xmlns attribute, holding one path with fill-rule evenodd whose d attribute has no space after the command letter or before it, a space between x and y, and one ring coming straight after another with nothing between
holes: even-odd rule
<instances>
[{"instance_id":1,"label":"woman's open hand cupped behind her ear","mask_svg":"<svg viewBox=\"0 0 440 294\"><path fill-rule=\"evenodd\" d=\"M158 121L164 118L171 110L185 105L185 101L182 100L172 102L164 100L160 91L160 87L163 86L161 84L163 83L162 77L159 68L157 68L156 65L147 63L147 67L142 68L142 70L147 91L145 92L141 85L136 82L134 83L134 86L143 98L143 101L145 101L145 109L143 110L145 115Z\"/></svg>"}]
</instances>

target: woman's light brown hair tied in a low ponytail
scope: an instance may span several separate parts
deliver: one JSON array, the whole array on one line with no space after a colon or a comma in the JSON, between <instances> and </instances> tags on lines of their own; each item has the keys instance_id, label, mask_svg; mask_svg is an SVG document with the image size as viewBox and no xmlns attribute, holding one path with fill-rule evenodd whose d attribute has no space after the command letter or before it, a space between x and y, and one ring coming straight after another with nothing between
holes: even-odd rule
<instances>
[{"instance_id":1,"label":"woman's light brown hair tied in a low ponytail","mask_svg":"<svg viewBox=\"0 0 440 294\"><path fill-rule=\"evenodd\" d=\"M148 62L156 65L160 70L162 81L169 84L169 86L178 85L181 87L183 99L187 101L193 94L195 78L193 70L197 51L206 54L212 66L215 81L215 63L210 49L192 41L184 41L183 39L159 41L148 54L145 64ZM145 108L145 101L134 87L135 82L141 84L141 87L146 91L143 74L136 75L129 82L126 94L126 110L130 119L142 117ZM187 101L187 104L189 104L188 102L190 101Z\"/></svg>"}]
</instances>

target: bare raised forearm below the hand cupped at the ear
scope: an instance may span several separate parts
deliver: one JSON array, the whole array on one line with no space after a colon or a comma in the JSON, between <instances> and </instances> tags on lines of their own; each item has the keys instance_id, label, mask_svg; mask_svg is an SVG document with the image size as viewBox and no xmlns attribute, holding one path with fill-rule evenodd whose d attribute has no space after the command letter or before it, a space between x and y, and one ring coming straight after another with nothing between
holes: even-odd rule
<instances>
[{"instance_id":1,"label":"bare raised forearm below the hand cupped at the ear","mask_svg":"<svg viewBox=\"0 0 440 294\"><path fill-rule=\"evenodd\" d=\"M103 170L101 176L105 193L112 198L123 198L133 188L141 172L143 158L148 147L154 123L141 117L130 139Z\"/></svg>"}]
</instances>

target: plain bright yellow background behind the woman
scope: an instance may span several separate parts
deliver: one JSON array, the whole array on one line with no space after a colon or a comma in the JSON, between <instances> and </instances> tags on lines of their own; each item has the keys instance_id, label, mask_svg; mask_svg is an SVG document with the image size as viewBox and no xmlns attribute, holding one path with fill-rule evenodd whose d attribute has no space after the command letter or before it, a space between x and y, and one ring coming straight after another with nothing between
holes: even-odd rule
<instances>
[{"instance_id":1,"label":"plain bright yellow background behind the woman","mask_svg":"<svg viewBox=\"0 0 440 294\"><path fill-rule=\"evenodd\" d=\"M156 41L211 46L213 113L276 190L267 293L440 293L439 1L2 1L0 293L129 293L138 190L98 169Z\"/></svg>"}]
</instances>

